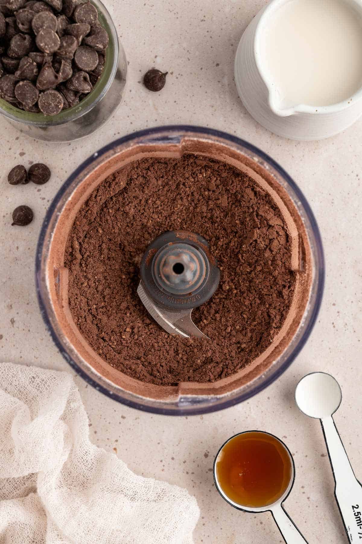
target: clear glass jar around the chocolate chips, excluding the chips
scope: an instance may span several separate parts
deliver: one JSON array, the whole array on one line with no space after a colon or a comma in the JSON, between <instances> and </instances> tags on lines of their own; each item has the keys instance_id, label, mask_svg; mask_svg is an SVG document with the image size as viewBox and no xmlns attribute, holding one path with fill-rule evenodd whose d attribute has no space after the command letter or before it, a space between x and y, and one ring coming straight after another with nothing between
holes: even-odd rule
<instances>
[{"instance_id":1,"label":"clear glass jar around the chocolate chips, excluding the chips","mask_svg":"<svg viewBox=\"0 0 362 544\"><path fill-rule=\"evenodd\" d=\"M58 115L45 116L42 113L24 112L0 98L0 113L20 132L45 141L77 140L101 127L120 106L126 85L126 55L105 5L100 0L92 0L92 3L97 8L99 21L109 36L101 78L84 100Z\"/></svg>"}]
</instances>

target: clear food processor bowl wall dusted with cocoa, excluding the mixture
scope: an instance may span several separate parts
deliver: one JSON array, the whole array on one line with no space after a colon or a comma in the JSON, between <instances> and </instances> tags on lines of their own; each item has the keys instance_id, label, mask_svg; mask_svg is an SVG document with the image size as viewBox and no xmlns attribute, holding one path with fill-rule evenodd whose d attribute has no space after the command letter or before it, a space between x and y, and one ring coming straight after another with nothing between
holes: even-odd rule
<instances>
[{"instance_id":1,"label":"clear food processor bowl wall dusted with cocoa, excluding the mixture","mask_svg":"<svg viewBox=\"0 0 362 544\"><path fill-rule=\"evenodd\" d=\"M289 314L285 321L285 336L275 347L271 345L266 350L265 353L270 351L262 363L257 361L257 366L253 366L253 362L234 376L213 384L187 382L175 387L155 386L111 367L82 337L69 310L64 253L79 208L101 181L144 156L181 157L183 153L210 156L234 165L247 164L256 175L263 176L260 179L265 187L270 184L275 199L283 201L285 213L295 218L290 236L296 240L296 269L303 277L293 312L290 311L292 317ZM128 406L182 416L221 410L240 403L285 372L315 324L323 292L324 259L320 233L308 202L273 159L230 134L209 128L170 126L116 140L94 153L73 172L58 191L42 225L36 251L35 281L46 326L66 361L85 381Z\"/></svg>"}]
</instances>

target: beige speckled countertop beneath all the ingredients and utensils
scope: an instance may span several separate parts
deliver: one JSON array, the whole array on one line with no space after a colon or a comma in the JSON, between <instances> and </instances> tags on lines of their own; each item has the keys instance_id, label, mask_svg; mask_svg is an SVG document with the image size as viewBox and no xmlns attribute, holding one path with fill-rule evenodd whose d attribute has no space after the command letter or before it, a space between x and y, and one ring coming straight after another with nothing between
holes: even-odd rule
<instances>
[{"instance_id":1,"label":"beige speckled countertop beneath all the ingredients and utensils","mask_svg":"<svg viewBox=\"0 0 362 544\"><path fill-rule=\"evenodd\" d=\"M247 403L189 418L152 416L116 404L75 378L90 419L90 436L139 474L187 487L201 517L195 543L277 544L281 536L268 514L238 512L218 496L212 461L235 432L268 430L283 437L296 462L296 483L286 508L309 542L347 542L334 502L334 483L317 421L293 403L298 379L326 370L340 381L342 405L335 416L359 479L362 479L361 405L361 213L362 120L338 137L318 143L284 140L257 125L238 100L233 60L238 40L261 0L106 0L130 62L126 98L101 131L78 143L51 145L17 133L0 120L1 214L0 353L3 360L69 371L45 330L36 302L35 244L49 202L75 167L115 138L167 123L206 125L231 132L271 154L296 180L319 222L327 262L322 310L308 344L283 377ZM159 94L140 79L150 66L168 70ZM15 164L44 161L52 169L42 187L11 187ZM362 174L361 174L362 175ZM33 223L11 227L20 204Z\"/></svg>"}]
</instances>

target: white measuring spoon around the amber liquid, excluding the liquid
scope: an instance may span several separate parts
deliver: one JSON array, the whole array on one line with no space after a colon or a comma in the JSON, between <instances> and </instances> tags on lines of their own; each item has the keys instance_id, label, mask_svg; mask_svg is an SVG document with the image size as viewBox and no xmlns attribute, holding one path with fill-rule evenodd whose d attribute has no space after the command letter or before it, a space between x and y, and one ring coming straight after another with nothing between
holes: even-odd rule
<instances>
[{"instance_id":1,"label":"white measuring spoon around the amber liquid, excluding the liquid","mask_svg":"<svg viewBox=\"0 0 362 544\"><path fill-rule=\"evenodd\" d=\"M290 459L291 464L291 473L290 473L290 481L289 485L287 486L285 492L283 495L275 501L273 504L268 504L266 506L261 506L259 508L249 508L248 506L244 506L242 504L238 504L234 502L234 500L231 500L230 497L224 492L222 486L219 483L218 475L217 475L217 463L220 460L221 456L223 455L223 448L226 446L230 440L233 440L236 436L243 435L243 434L262 434L262 435L269 435L278 440L280 442L281 446L286 450L287 455ZM308 544L308 542L304 539L302 536L302 533L297 529L297 527L292 522L291 518L287 514L287 512L284 510L283 503L289 493L292 490L294 479L295 479L295 467L294 467L294 461L292 458L292 454L290 453L289 449L286 447L284 442L280 440L277 436L272 435L269 432L263 432L263 431L246 431L246 432L240 432L237 435L232 436L229 438L229 440L226 440L226 442L222 445L222 447L219 449L216 458L214 460L214 466L213 466L213 476L214 476L214 483L216 485L216 489L220 493L220 495L223 497L223 499L226 500L227 503L229 503L231 506L234 506L237 510L242 510L243 512L251 512L253 514L259 514L259 512L271 512L273 519L275 523L277 523L278 529L281 533L281 536L283 536L284 541L286 544Z\"/></svg>"}]
</instances>

